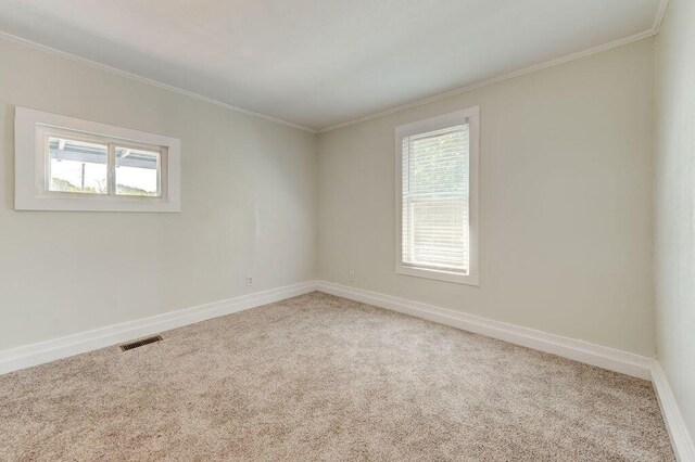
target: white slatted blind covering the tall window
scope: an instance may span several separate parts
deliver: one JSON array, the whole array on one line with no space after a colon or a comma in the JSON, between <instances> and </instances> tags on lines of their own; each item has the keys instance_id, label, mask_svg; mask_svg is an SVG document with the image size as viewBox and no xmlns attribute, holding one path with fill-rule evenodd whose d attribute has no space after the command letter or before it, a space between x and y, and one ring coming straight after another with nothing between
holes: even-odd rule
<instances>
[{"instance_id":1,"label":"white slatted blind covering the tall window","mask_svg":"<svg viewBox=\"0 0 695 462\"><path fill-rule=\"evenodd\" d=\"M469 125L403 138L402 264L469 272Z\"/></svg>"}]
</instances>

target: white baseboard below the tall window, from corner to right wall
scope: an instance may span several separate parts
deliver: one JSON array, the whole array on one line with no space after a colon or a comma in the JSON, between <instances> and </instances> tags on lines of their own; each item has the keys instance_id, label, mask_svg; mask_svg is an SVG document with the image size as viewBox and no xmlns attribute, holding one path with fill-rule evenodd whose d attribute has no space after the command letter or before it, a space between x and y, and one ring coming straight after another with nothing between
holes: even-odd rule
<instances>
[{"instance_id":1,"label":"white baseboard below the tall window, from corner to right wall","mask_svg":"<svg viewBox=\"0 0 695 462\"><path fill-rule=\"evenodd\" d=\"M498 338L609 371L645 380L650 377L654 359L645 356L333 282L318 281L317 288L327 294Z\"/></svg>"}]
</instances>

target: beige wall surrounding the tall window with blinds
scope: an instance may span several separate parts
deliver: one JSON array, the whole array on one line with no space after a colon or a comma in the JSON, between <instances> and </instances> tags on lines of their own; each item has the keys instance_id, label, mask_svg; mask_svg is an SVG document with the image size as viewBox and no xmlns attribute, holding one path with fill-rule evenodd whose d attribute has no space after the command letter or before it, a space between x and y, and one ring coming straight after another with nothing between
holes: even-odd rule
<instances>
[{"instance_id":1,"label":"beige wall surrounding the tall window with blinds","mask_svg":"<svg viewBox=\"0 0 695 462\"><path fill-rule=\"evenodd\" d=\"M654 355L654 39L319 136L319 278ZM394 272L394 127L480 106L480 287Z\"/></svg>"}]
</instances>

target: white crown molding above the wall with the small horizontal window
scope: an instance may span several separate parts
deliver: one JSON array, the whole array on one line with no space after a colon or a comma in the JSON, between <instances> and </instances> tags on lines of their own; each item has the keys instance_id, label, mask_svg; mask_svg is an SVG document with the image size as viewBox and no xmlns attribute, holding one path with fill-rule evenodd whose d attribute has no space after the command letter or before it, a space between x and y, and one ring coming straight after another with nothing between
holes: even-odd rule
<instances>
[{"instance_id":1,"label":"white crown molding above the wall with the small horizontal window","mask_svg":"<svg viewBox=\"0 0 695 462\"><path fill-rule=\"evenodd\" d=\"M116 74L116 75L118 75L121 77L126 77L126 78L129 78L129 79L132 79L132 80L137 80L137 81L139 81L141 84L148 84L148 85L161 88L163 90L172 91L174 93L178 93L178 94L182 94L185 97L193 98L193 99L199 100L199 101L204 101L206 103L215 104L217 106L222 106L222 107L225 107L227 110L231 110L231 111L235 111L235 112L238 112L238 113L250 115L252 117L262 118L264 120L273 121L275 124L285 125L287 127L296 128L298 130L303 130L303 131L307 131L309 133L316 134L316 130L314 130L313 128L308 128L308 127L304 127L302 125L293 124L291 121L287 121L287 120L283 120L281 118L277 118L277 117L268 116L268 115L265 115L265 114L256 113L254 111L244 110L243 107L235 106L232 104L225 103L224 101L219 101L219 100L215 100L213 98L204 97L202 94L198 94L198 93L194 93L192 91L184 90L182 88L174 87L174 86L168 85L168 84L163 84L163 82L161 82L159 80L153 80L153 79L150 79L150 78L147 78L147 77L142 77L142 76L139 76L137 74L129 73L127 70L122 70L122 69L118 69L118 68L115 68L115 67L111 67L111 66L108 66L105 64L101 64L101 63L99 63L97 61L88 60L86 57L81 57L81 56L78 56L76 54L68 53L66 51L61 51L61 50L58 50L55 48L52 48L52 47L49 47L49 46L46 46L46 44L42 44L42 43L37 43L37 42L33 41L33 40L28 40L28 39L25 39L25 38L22 38L22 37L17 37L17 36L12 35L12 34L3 33L1 30L0 30L0 39L12 41L14 43L20 43L20 44L23 44L25 47L29 47L29 48L33 48L35 50L42 51L45 53L49 53L49 54L53 54L55 56L64 57L66 60L73 61L75 63L84 64L86 66L89 66L89 67L92 67L92 68L97 68L97 69L100 69L100 70L105 70L105 72L111 73L111 74Z\"/></svg>"}]
</instances>

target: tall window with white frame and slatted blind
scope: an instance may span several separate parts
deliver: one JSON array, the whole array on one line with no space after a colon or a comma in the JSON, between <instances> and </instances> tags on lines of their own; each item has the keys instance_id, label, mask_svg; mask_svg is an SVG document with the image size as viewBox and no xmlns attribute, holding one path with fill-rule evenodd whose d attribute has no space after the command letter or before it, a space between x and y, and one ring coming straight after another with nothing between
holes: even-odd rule
<instances>
[{"instance_id":1,"label":"tall window with white frame and slatted blind","mask_svg":"<svg viewBox=\"0 0 695 462\"><path fill-rule=\"evenodd\" d=\"M396 128L396 272L478 284L478 108Z\"/></svg>"}]
</instances>

